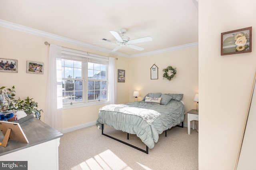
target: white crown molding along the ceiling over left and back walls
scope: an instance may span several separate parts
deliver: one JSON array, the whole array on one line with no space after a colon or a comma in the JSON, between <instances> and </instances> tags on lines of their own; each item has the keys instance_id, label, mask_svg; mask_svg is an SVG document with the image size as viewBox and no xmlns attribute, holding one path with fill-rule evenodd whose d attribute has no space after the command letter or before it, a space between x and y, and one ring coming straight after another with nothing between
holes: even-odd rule
<instances>
[{"instance_id":1,"label":"white crown molding along the ceiling over left and back walls","mask_svg":"<svg viewBox=\"0 0 256 170\"><path fill-rule=\"evenodd\" d=\"M10 28L10 29L13 29L13 30L17 30L17 31L21 31L21 32L26 32L28 34L34 34L36 36L46 37L46 38L50 38L50 39L61 41L61 42L66 42L66 43L79 45L79 46L90 48L90 49L95 49L95 50L106 52L106 53L116 54L116 55L119 55L119 56L122 56L122 57L141 57L141 56L145 56L145 55L164 53L164 52L168 52L168 51L175 51L175 50L180 50L180 49L185 49L185 48L198 46L198 42L194 42L194 43L179 45L179 46L176 46L176 47L170 47L170 48L164 48L164 49L155 50L155 51L149 51L149 52L145 52L145 53L128 55L128 54L120 53L120 52L117 52L117 51L112 52L109 49L97 47L95 45L80 42L80 41L77 41L77 40L72 40L70 38L58 36L56 34L43 32L43 31L36 30L34 28L29 28L29 27L26 27L26 26L22 26L22 25L19 25L19 24L14 24L12 22L8 22L8 21L5 21L5 20L0 20L0 26L5 27L5 28Z\"/></svg>"}]
</instances>

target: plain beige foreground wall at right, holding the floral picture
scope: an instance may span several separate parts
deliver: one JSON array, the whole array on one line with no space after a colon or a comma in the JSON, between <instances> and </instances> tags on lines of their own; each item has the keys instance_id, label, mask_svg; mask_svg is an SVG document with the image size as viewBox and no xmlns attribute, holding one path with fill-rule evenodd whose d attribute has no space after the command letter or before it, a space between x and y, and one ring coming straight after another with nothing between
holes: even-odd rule
<instances>
[{"instance_id":1,"label":"plain beige foreground wall at right, holding the floral picture","mask_svg":"<svg viewBox=\"0 0 256 170\"><path fill-rule=\"evenodd\" d=\"M256 70L256 2L199 1L199 169L234 170ZM220 34L252 26L252 52L220 55Z\"/></svg>"}]
</instances>

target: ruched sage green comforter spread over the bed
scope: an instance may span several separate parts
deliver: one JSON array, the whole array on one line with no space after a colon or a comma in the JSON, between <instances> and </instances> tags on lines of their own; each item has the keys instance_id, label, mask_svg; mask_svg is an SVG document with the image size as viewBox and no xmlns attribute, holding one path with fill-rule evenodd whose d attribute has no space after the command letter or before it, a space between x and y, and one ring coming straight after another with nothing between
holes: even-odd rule
<instances>
[{"instance_id":1,"label":"ruched sage green comforter spread over the bed","mask_svg":"<svg viewBox=\"0 0 256 170\"><path fill-rule=\"evenodd\" d=\"M126 103L128 107L150 109L161 115L152 123L147 123L142 117L116 111L100 111L96 126L102 129L102 124L122 130L129 134L136 134L148 148L153 148L158 141L159 134L179 125L184 121L185 107L181 101L171 100L167 105L154 105L144 101Z\"/></svg>"}]
</instances>

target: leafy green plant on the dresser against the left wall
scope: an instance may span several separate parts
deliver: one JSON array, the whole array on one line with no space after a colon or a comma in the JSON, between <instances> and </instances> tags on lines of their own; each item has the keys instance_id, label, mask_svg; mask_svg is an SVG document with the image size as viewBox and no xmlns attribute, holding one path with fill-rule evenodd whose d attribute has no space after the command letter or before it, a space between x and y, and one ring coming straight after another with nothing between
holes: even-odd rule
<instances>
[{"instance_id":1,"label":"leafy green plant on the dresser against the left wall","mask_svg":"<svg viewBox=\"0 0 256 170\"><path fill-rule=\"evenodd\" d=\"M6 87L1 87L0 90L4 89ZM12 86L12 89L6 89L7 95L11 100L10 103L10 110L24 110L26 113L34 113L34 116L40 120L41 118L41 112L43 112L42 109L38 108L38 103L33 101L33 98L27 97L24 100L21 100L20 97L18 99L14 99L16 91L14 91L15 87Z\"/></svg>"}]
</instances>

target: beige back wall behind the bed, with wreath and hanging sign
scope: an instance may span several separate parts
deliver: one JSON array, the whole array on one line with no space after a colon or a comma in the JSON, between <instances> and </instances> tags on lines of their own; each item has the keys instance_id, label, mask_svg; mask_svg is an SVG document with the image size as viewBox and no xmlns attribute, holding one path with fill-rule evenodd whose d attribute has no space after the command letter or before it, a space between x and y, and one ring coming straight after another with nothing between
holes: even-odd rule
<instances>
[{"instance_id":1,"label":"beige back wall behind the bed, with wreath and hanging sign","mask_svg":"<svg viewBox=\"0 0 256 170\"><path fill-rule=\"evenodd\" d=\"M153 64L158 67L158 79L150 77ZM162 70L168 66L177 70L176 77L171 81L162 77ZM194 97L198 93L198 47L131 58L129 77L130 102L134 101L133 91L140 92L139 101L148 93L182 93L186 111L196 109Z\"/></svg>"}]
</instances>

